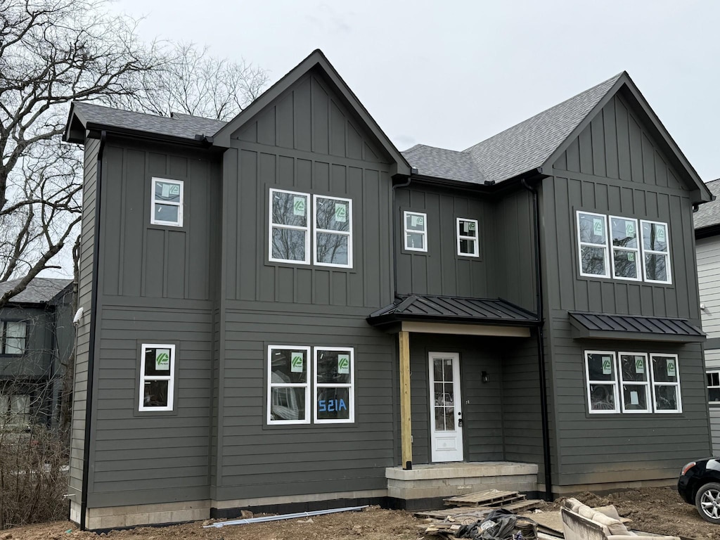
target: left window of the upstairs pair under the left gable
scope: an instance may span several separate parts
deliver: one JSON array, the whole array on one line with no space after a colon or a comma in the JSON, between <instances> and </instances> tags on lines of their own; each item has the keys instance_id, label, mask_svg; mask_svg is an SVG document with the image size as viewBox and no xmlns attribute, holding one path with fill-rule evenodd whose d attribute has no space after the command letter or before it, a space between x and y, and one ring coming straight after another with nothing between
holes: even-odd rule
<instances>
[{"instance_id":1,"label":"left window of the upstairs pair under the left gable","mask_svg":"<svg viewBox=\"0 0 720 540\"><path fill-rule=\"evenodd\" d=\"M310 264L310 195L270 189L269 259Z\"/></svg>"}]
</instances>

